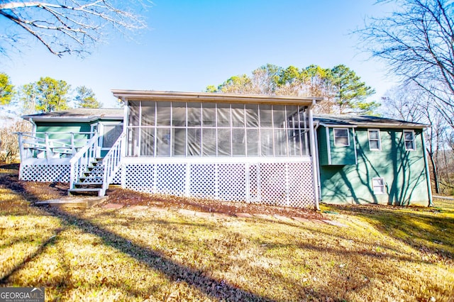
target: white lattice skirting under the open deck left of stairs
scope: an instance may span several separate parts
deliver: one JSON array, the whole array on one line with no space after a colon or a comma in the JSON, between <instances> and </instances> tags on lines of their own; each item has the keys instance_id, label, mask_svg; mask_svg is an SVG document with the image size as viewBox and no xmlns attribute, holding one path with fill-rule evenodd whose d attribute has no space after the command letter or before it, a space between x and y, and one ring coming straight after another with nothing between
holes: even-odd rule
<instances>
[{"instance_id":1,"label":"white lattice skirting under the open deck left of stairs","mask_svg":"<svg viewBox=\"0 0 454 302\"><path fill-rule=\"evenodd\" d=\"M69 164L21 164L21 180L69 182Z\"/></svg>"}]
</instances>

